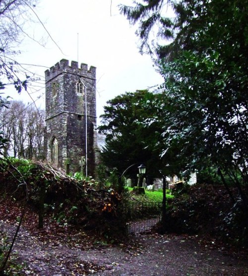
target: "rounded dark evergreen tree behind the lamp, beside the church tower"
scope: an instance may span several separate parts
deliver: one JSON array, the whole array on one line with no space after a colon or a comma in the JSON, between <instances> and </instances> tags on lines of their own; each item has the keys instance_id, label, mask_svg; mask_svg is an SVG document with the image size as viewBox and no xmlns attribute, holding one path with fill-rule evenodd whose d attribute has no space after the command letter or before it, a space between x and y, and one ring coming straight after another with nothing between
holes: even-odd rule
<instances>
[{"instance_id":1,"label":"rounded dark evergreen tree behind the lamp, beside the church tower","mask_svg":"<svg viewBox=\"0 0 248 276\"><path fill-rule=\"evenodd\" d=\"M167 112L160 105L161 97L162 94L142 90L125 93L107 103L99 127L106 134L106 145L102 153L105 165L117 167L123 172L133 164L145 164L150 177L180 172L182 160L181 163L175 161L174 166L171 164L171 159L174 158L172 152L177 152L176 145L170 149L166 158L161 159L164 116ZM132 177L137 174L137 166L128 170Z\"/></svg>"}]
</instances>

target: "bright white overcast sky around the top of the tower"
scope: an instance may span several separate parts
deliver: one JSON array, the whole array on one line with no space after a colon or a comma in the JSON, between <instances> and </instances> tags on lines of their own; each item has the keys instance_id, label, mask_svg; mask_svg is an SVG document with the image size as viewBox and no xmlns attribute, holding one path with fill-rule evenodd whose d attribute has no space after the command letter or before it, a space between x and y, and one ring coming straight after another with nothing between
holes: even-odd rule
<instances>
[{"instance_id":1,"label":"bright white overcast sky around the top of the tower","mask_svg":"<svg viewBox=\"0 0 248 276\"><path fill-rule=\"evenodd\" d=\"M117 95L161 84L162 77L155 71L151 58L139 54L135 27L130 27L128 20L120 15L117 7L120 3L130 4L132 0L112 0L112 6L111 0L40 0L35 12L62 52L41 25L32 23L29 33L36 39L43 37L46 46L25 39L17 60L50 68L62 58L77 61L78 55L79 64L97 67L98 117L106 101ZM30 66L31 71L42 76L42 87L45 67ZM33 93L33 99L44 92L41 89ZM12 91L11 96L31 101L25 92L18 96ZM45 108L45 97L37 105Z\"/></svg>"}]
</instances>

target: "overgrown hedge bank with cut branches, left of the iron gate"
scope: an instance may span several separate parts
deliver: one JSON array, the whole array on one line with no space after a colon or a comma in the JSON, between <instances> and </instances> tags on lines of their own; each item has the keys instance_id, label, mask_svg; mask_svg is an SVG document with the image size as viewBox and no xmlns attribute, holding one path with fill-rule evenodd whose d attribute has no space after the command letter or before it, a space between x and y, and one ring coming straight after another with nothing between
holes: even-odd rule
<instances>
[{"instance_id":1,"label":"overgrown hedge bank with cut branches, left of the iron gate","mask_svg":"<svg viewBox=\"0 0 248 276\"><path fill-rule=\"evenodd\" d=\"M17 204L27 201L37 213L44 207L44 216L61 225L75 224L106 237L120 237L125 232L118 212L121 197L113 189L96 187L91 178L76 179L41 162L0 160L1 203L10 198Z\"/></svg>"}]
</instances>

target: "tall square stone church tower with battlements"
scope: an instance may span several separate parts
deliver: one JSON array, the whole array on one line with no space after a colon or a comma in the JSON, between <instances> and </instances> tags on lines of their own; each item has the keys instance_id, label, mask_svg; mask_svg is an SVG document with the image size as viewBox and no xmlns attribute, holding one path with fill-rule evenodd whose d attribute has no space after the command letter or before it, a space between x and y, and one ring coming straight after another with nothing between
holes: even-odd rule
<instances>
[{"instance_id":1,"label":"tall square stone church tower with battlements","mask_svg":"<svg viewBox=\"0 0 248 276\"><path fill-rule=\"evenodd\" d=\"M47 160L66 172L94 175L96 68L62 59L45 71Z\"/></svg>"}]
</instances>

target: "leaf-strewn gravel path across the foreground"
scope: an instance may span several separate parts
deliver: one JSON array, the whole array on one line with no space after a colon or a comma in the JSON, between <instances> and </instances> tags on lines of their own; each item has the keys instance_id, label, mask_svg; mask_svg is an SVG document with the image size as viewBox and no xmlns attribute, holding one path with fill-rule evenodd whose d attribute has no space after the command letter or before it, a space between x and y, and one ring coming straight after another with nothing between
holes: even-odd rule
<instances>
[{"instance_id":1,"label":"leaf-strewn gravel path across the foreground","mask_svg":"<svg viewBox=\"0 0 248 276\"><path fill-rule=\"evenodd\" d=\"M6 230L0 226L1 231ZM43 242L22 229L14 251L25 264L22 275L248 276L244 256L224 255L183 236L138 235L127 245L82 247Z\"/></svg>"}]
</instances>

